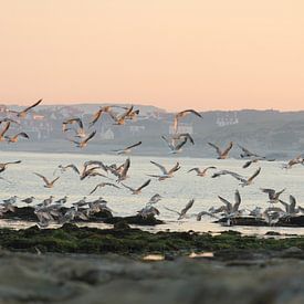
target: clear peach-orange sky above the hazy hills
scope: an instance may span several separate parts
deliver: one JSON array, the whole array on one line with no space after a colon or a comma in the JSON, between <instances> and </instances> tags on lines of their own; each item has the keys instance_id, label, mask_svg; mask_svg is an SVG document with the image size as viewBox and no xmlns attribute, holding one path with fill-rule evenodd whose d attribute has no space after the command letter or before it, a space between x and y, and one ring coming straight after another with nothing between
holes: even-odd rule
<instances>
[{"instance_id":1,"label":"clear peach-orange sky above the hazy hills","mask_svg":"<svg viewBox=\"0 0 304 304\"><path fill-rule=\"evenodd\" d=\"M0 103L304 109L303 0L0 0Z\"/></svg>"}]
</instances>

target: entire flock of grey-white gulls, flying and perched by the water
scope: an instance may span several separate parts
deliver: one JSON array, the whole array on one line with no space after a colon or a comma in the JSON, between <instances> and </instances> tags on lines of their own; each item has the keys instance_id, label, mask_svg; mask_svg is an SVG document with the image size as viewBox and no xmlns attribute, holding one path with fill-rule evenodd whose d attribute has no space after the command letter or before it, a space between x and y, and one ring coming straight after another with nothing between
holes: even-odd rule
<instances>
[{"instance_id":1,"label":"entire flock of grey-white gulls, flying and perched by the water","mask_svg":"<svg viewBox=\"0 0 304 304\"><path fill-rule=\"evenodd\" d=\"M0 125L3 125L0 130L0 141L8 143L17 143L19 138L29 139L29 135L24 132L18 134L10 134L11 124L22 124L22 119L27 117L27 114L38 105L40 105L42 99L38 101L33 105L17 112L17 111L7 111L7 117L0 119ZM72 117L62 123L62 132L67 140L74 144L78 148L85 148L90 141L96 135L96 129L94 126L98 120L102 119L104 115L108 115L113 119L113 124L118 126L124 126L128 120L134 120L139 115L139 109L135 109L133 105L128 107L124 106L103 106L96 113L92 115L88 125L85 126L83 120L80 117ZM198 119L202 119L200 113L195 109L186 109L179 112L174 117L172 129L174 134L170 136L161 136L161 139L166 143L169 148L170 154L178 154L182 151L182 147L186 144L195 145L195 140L192 136L188 133L178 133L180 120L187 115L195 115ZM8 135L10 134L10 135ZM130 144L127 147L118 150L113 150L117 155L129 155L133 149L140 146L141 140ZM230 141L229 145L224 148L217 146L213 143L208 143L211 148L213 148L217 153L218 159L227 159L231 149L234 146L234 143ZM264 161L274 161L275 159L266 158L265 156L261 156L250 151L248 148L238 145L240 149L241 159L244 159L243 168L250 167L252 164L255 164L260 160ZM0 164L0 174L6 171L10 166L14 166L20 164L21 160L9 161ZM129 186L126 184L126 180L129 178L128 170L130 168L130 158L127 157L123 164L105 164L104 161L98 160L88 160L85 161L82 167L77 167L74 164L65 164L59 165L54 168L54 172L52 177L46 177L41 172L33 172L36 178L41 179L43 182L43 187L53 188L55 187L57 180L61 178L64 172L67 170L73 171L80 180L84 180L92 177L99 177L104 181L98 182L93 189L90 189L88 195L91 196L97 192L101 188L112 187L117 189L127 189L132 195L139 195L146 187L149 187L153 179L157 179L159 181L164 181L168 178L174 178L175 172L180 169L180 164L177 161L175 166L170 168L166 168L161 164L156 161L150 161L151 165L158 169L158 174L147 175L148 179L143 180L140 185ZM283 165L284 169L291 169L296 165L304 165L304 158L302 155L296 156L291 159L289 163ZM255 178L258 178L261 174L261 167L259 167L252 175L250 176L241 176L231 170L218 170L214 166L209 166L206 168L195 167L188 170L188 174L196 172L198 177L206 177L208 172L212 171L211 178L220 178L221 176L230 176L233 179L239 181L241 187L251 186ZM0 176L0 179L10 182L4 177ZM234 202L229 201L227 198L221 196L218 197L219 201L222 203L221 206L214 208L210 208L208 210L203 210L196 214L190 214L189 210L192 208L195 203L195 199L190 199L189 202L179 210L174 210L169 208L165 208L166 210L176 213L178 220L185 219L187 217L196 217L198 221L202 219L202 217L211 217L218 220L226 219L227 224L231 224L231 220L237 217L253 217L255 219L263 219L269 224L277 222L281 218L291 218L297 217L304 213L304 208L296 206L296 199L291 195L290 201L283 201L280 199L280 196L285 191L285 189L268 189L261 188L261 191L268 196L269 207L266 209L262 209L261 207L255 207L253 210L241 209L241 195L239 190L234 192ZM19 198L13 196L9 199L3 200L0 203L0 216L3 216L6 212L14 212L17 207L17 200ZM155 193L144 206L143 209L138 210L138 216L143 218L159 216L160 211L156 207L157 202L159 202L163 197L159 193ZM32 196L29 198L20 199L24 205L31 206L34 209L34 213L39 219L40 227L48 227L52 222L64 223L73 220L90 220L95 213L101 211L109 211L109 207L107 206L107 201L99 197L96 200L88 200L87 197L83 197L81 200L75 202L69 202L69 197L64 196L61 199L54 200L53 196L48 197L42 202L36 202L36 199ZM67 207L69 206L69 207ZM64 210L64 211L62 211Z\"/></svg>"}]
</instances>

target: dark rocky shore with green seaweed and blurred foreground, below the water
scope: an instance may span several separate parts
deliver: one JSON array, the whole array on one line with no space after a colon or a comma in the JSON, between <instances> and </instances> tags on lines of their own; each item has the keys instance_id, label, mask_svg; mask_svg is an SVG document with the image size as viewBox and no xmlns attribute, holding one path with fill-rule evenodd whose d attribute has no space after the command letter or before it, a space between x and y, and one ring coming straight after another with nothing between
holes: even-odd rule
<instances>
[{"instance_id":1,"label":"dark rocky shore with green seaweed and blurred foreground, below the water","mask_svg":"<svg viewBox=\"0 0 304 304\"><path fill-rule=\"evenodd\" d=\"M0 229L0 303L304 303L304 237L149 233L120 221Z\"/></svg>"}]
</instances>

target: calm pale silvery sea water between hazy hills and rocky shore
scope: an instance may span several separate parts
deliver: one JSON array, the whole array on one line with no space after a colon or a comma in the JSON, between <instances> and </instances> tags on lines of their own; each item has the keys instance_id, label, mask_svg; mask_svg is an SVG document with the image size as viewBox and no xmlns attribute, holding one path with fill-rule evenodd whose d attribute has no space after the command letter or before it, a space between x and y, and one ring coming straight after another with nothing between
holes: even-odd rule
<instances>
[{"instance_id":1,"label":"calm pale silvery sea water between hazy hills and rocky shore","mask_svg":"<svg viewBox=\"0 0 304 304\"><path fill-rule=\"evenodd\" d=\"M280 161L261 161L253 164L252 167L243 169L243 160L238 159L206 159L206 158L185 158L185 157L141 157L130 156L129 178L125 184L136 188L140 186L148 174L159 174L159 169L150 164L150 160L157 161L165 167L171 168L176 161L180 163L181 169L175 174L174 178L165 181L153 179L150 185L143 190L138 196L134 196L127 189L115 188L99 188L94 195L90 196L90 191L102 181L106 181L102 177L93 177L83 181L72 170L61 175L53 189L43 187L42 180L33 175L40 172L46 177L54 178L60 175L54 170L59 165L74 164L81 168L82 164L86 160L102 160L105 164L122 164L125 161L126 156L116 155L81 155L81 154L34 154L34 153L0 153L1 163L11 160L22 160L19 165L10 166L1 176L11 181L11 184L0 180L1 192L0 199L7 199L11 196L18 196L23 199L30 196L36 198L36 202L53 195L56 199L63 196L69 196L69 202L72 203L87 197L88 200L94 200L102 196L108 201L109 208L113 209L115 216L130 216L135 214L137 210L143 208L149 198L159 193L164 198L157 203L160 210L159 218L165 220L167 224L158 226L155 229L170 229L170 230L196 230L196 231L222 231L223 228L217 223L212 223L213 219L203 218L201 222L197 222L195 214L202 210L208 210L210 207L219 207L221 202L218 196L222 196L233 202L234 190L239 189L242 203L241 208L253 209L255 206L268 207L268 197L262 193L260 188L286 188L282 195L282 199L289 201L289 195L292 193L300 206L304 207L304 166L297 166L293 169L282 169ZM255 169L261 166L262 170L260 176L256 177L253 185L248 187L240 187L239 181L230 176L222 176L220 178L210 178L213 170L210 170L207 177L198 177L195 172L187 172L192 167L216 166L218 170L229 169L243 176L251 176ZM111 176L111 175L109 175ZM181 210L185 205L195 198L195 205L189 210L189 218L182 221L177 221L177 214L166 210L164 207ZM21 206L19 201L18 205ZM12 223L1 221L1 226L15 227L20 223ZM96 226L96 224L94 224ZM97 224L103 227L103 224ZM262 234L269 230L280 231L282 233L296 233L304 234L304 228L255 228L255 227L238 227L229 228L244 233Z\"/></svg>"}]
</instances>

